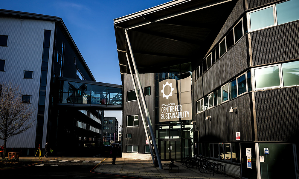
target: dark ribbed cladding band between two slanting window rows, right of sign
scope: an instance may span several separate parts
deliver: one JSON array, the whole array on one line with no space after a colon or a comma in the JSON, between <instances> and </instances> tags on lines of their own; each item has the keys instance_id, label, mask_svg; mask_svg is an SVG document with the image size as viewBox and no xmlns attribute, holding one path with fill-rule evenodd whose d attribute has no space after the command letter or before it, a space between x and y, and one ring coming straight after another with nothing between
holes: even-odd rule
<instances>
[{"instance_id":1,"label":"dark ribbed cladding band between two slanting window rows, right of sign","mask_svg":"<svg viewBox=\"0 0 299 179\"><path fill-rule=\"evenodd\" d=\"M248 59L246 36L244 36L202 75L204 95L215 90L246 68L248 68Z\"/></svg>"}]
</instances>

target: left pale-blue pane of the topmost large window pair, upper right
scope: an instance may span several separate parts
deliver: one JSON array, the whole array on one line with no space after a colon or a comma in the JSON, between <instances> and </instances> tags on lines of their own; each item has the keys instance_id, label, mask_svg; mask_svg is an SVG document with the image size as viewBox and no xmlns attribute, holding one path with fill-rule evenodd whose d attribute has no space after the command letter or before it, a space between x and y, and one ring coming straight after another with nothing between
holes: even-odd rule
<instances>
[{"instance_id":1,"label":"left pale-blue pane of the topmost large window pair, upper right","mask_svg":"<svg viewBox=\"0 0 299 179\"><path fill-rule=\"evenodd\" d=\"M273 26L274 15L273 15L273 6L266 7L261 10L253 11L249 13L250 16L250 27L251 30L258 30L264 27Z\"/></svg>"}]
</instances>

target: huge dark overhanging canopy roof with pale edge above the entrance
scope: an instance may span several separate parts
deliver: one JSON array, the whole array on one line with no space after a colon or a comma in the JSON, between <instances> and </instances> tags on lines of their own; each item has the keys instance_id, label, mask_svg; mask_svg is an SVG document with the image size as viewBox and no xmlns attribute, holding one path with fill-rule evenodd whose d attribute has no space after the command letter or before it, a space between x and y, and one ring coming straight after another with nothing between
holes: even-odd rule
<instances>
[{"instance_id":1,"label":"huge dark overhanging canopy roof with pale edge above the entrance","mask_svg":"<svg viewBox=\"0 0 299 179\"><path fill-rule=\"evenodd\" d=\"M125 29L140 73L187 62L197 66L236 3L237 0L174 0L114 19L122 81L123 73L129 72Z\"/></svg>"}]
</instances>

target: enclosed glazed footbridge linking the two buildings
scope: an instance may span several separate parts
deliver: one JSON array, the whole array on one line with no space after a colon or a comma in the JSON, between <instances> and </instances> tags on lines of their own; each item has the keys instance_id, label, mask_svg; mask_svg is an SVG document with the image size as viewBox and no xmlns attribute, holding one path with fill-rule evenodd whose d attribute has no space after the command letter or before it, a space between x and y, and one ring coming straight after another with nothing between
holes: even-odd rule
<instances>
[{"instance_id":1,"label":"enclosed glazed footbridge linking the two buildings","mask_svg":"<svg viewBox=\"0 0 299 179\"><path fill-rule=\"evenodd\" d=\"M122 85L58 78L59 101L61 107L78 109L121 110Z\"/></svg>"}]
</instances>

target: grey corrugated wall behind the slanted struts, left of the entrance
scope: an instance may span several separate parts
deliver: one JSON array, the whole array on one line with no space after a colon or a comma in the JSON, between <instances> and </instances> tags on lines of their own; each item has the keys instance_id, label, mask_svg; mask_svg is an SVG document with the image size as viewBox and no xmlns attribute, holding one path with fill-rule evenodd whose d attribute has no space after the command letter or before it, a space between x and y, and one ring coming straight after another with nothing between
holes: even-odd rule
<instances>
[{"instance_id":1,"label":"grey corrugated wall behind the slanted struts, left of the entrance","mask_svg":"<svg viewBox=\"0 0 299 179\"><path fill-rule=\"evenodd\" d=\"M149 110L149 116L152 120L152 125L154 127L155 126L155 123L154 123L155 74L147 73L147 74L139 74L139 76L140 76L140 81L141 81L143 90L144 90L144 87L148 87L148 86L151 87L151 95L145 96L145 101L147 103L147 107ZM135 74L134 74L134 78L136 81ZM138 144L138 153L145 153L144 146L146 145L147 137L144 132L144 126L143 126L142 118L140 115L138 102L137 101L126 102L127 101L127 92L134 90L131 74L126 74L126 73L124 74L124 84L125 85L124 85L124 91L123 91L123 138L126 138L126 134L132 134L132 138L123 140L123 152L126 152L126 145ZM140 97L140 95L139 95L139 97ZM141 97L140 97L140 100L141 100ZM142 101L141 101L141 106L144 111ZM139 126L138 127L126 127L128 115L139 115ZM145 112L143 115L145 117L145 120L147 121ZM148 125L148 124L146 124L146 125Z\"/></svg>"}]
</instances>

